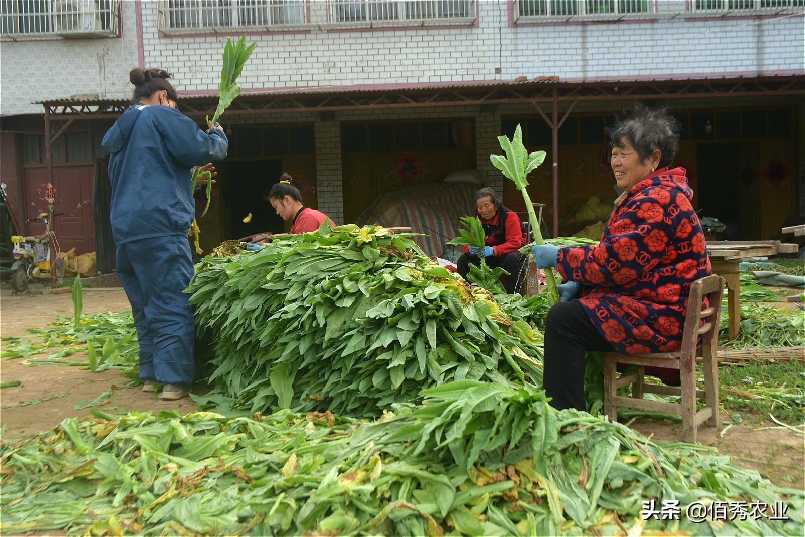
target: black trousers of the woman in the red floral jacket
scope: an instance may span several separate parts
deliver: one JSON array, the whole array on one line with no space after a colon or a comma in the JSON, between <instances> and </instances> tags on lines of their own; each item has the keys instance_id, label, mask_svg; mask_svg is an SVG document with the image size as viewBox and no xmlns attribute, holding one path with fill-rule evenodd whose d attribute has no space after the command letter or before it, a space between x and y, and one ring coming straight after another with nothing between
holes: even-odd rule
<instances>
[{"instance_id":1,"label":"black trousers of the woman in the red floral jacket","mask_svg":"<svg viewBox=\"0 0 805 537\"><path fill-rule=\"evenodd\" d=\"M578 300L559 302L545 320L543 385L551 407L584 411L584 351L612 351Z\"/></svg>"}]
</instances>

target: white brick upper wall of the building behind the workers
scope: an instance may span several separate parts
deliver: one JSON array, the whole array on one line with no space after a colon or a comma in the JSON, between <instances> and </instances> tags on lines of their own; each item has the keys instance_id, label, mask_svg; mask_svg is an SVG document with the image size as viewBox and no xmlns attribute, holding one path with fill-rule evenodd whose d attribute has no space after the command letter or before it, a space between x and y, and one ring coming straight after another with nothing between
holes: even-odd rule
<instances>
[{"instance_id":1,"label":"white brick upper wall of the building behind the workers","mask_svg":"<svg viewBox=\"0 0 805 537\"><path fill-rule=\"evenodd\" d=\"M719 76L805 70L802 16L686 18L683 0L659 0L653 21L518 25L510 0L477 0L477 27L250 35L258 47L244 89L510 80L516 76L601 78ZM128 72L174 73L176 88L214 92L221 35L166 36L158 3L122 2L122 37L0 43L0 114L37 114L32 101L93 94L126 97ZM313 23L326 2L311 0ZM670 14L677 14L671 18ZM497 73L496 71L500 72Z\"/></svg>"}]
</instances>

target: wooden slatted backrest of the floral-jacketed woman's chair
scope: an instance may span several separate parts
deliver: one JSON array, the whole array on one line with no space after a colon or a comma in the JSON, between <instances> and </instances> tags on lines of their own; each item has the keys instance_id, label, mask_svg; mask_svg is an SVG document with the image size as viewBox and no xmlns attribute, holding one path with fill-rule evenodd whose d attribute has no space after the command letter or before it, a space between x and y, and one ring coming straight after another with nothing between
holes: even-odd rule
<instances>
[{"instance_id":1,"label":"wooden slatted backrest of the floral-jacketed woman's chair","mask_svg":"<svg viewBox=\"0 0 805 537\"><path fill-rule=\"evenodd\" d=\"M704 299L708 300L708 307L703 309ZM691 283L691 290L687 295L682 349L679 351L680 360L696 359L699 337L702 338L704 356L714 357L716 355L722 299L724 299L724 279L720 276L706 276Z\"/></svg>"}]
</instances>

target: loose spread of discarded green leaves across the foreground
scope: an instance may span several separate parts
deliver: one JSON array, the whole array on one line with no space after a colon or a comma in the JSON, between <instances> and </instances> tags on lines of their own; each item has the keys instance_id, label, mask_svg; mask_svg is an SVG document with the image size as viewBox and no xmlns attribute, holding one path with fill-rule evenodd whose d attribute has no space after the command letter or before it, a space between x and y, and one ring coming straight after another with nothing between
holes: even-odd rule
<instances>
[{"instance_id":1,"label":"loose spread of discarded green leaves across the foreground","mask_svg":"<svg viewBox=\"0 0 805 537\"><path fill-rule=\"evenodd\" d=\"M3 442L4 533L803 535L802 489L715 448L658 444L541 391L462 381L378 422L329 412L132 412ZM642 520L643 502L779 502L766 516Z\"/></svg>"}]
</instances>

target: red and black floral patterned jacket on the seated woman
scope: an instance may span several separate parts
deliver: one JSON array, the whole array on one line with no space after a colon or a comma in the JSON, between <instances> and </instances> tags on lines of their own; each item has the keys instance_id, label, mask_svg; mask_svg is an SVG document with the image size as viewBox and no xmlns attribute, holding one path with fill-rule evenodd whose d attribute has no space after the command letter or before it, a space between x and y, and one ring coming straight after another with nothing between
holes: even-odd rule
<instances>
[{"instance_id":1,"label":"red and black floral patterned jacket on the seated woman","mask_svg":"<svg viewBox=\"0 0 805 537\"><path fill-rule=\"evenodd\" d=\"M615 207L598 246L559 248L580 303L618 352L679 350L691 283L712 274L685 170L662 168ZM590 286L590 287L587 287Z\"/></svg>"}]
</instances>

